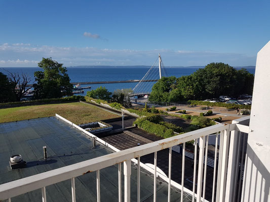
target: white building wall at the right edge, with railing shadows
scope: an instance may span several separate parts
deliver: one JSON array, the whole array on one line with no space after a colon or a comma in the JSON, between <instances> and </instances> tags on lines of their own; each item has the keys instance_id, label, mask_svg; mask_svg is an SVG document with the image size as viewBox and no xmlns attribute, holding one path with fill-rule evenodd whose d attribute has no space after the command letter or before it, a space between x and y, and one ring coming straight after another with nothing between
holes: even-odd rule
<instances>
[{"instance_id":1,"label":"white building wall at the right edge, with railing shadows","mask_svg":"<svg viewBox=\"0 0 270 202\"><path fill-rule=\"evenodd\" d=\"M257 55L249 126L242 201L270 201L270 41Z\"/></svg>"}]
</instances>

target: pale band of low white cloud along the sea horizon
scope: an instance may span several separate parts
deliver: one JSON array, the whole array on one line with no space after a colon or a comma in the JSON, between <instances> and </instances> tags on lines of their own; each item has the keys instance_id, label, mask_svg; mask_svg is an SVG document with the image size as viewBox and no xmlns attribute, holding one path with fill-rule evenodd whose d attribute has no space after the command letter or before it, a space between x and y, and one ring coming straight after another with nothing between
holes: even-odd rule
<instances>
[{"instance_id":1,"label":"pale band of low white cloud along the sea horizon","mask_svg":"<svg viewBox=\"0 0 270 202\"><path fill-rule=\"evenodd\" d=\"M224 62L231 66L255 65L256 56L214 51L172 49L109 49L96 47L61 47L28 43L0 44L3 67L36 67L43 57L52 57L65 66L79 65L152 65L161 53L166 66L203 66Z\"/></svg>"}]
</instances>

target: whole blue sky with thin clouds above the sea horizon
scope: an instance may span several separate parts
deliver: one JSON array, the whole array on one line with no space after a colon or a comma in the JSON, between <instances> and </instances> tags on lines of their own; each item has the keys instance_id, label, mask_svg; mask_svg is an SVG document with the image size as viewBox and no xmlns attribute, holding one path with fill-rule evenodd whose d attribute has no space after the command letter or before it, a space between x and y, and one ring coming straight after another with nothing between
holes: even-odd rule
<instances>
[{"instance_id":1,"label":"whole blue sky with thin clouds above the sea horizon","mask_svg":"<svg viewBox=\"0 0 270 202\"><path fill-rule=\"evenodd\" d=\"M1 1L0 67L255 65L270 1Z\"/></svg>"}]
</instances>

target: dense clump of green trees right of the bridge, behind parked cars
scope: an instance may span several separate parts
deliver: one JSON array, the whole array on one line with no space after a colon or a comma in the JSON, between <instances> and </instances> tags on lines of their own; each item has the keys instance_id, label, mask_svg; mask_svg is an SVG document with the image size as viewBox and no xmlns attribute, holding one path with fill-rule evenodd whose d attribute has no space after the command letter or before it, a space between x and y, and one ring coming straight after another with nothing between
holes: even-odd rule
<instances>
[{"instance_id":1,"label":"dense clump of green trees right of the bridge, behind parked cars","mask_svg":"<svg viewBox=\"0 0 270 202\"><path fill-rule=\"evenodd\" d=\"M152 87L150 100L179 102L229 95L252 94L254 75L224 63L210 63L189 76L163 77Z\"/></svg>"}]
</instances>

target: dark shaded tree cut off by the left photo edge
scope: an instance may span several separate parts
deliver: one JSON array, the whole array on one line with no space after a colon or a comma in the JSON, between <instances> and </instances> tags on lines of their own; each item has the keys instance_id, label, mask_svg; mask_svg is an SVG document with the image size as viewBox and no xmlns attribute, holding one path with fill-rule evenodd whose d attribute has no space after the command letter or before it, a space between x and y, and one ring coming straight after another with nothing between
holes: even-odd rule
<instances>
[{"instance_id":1,"label":"dark shaded tree cut off by the left photo edge","mask_svg":"<svg viewBox=\"0 0 270 202\"><path fill-rule=\"evenodd\" d=\"M16 97L13 93L13 85L7 75L0 72L0 103L14 102Z\"/></svg>"}]
</instances>

